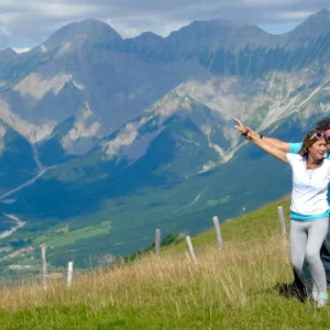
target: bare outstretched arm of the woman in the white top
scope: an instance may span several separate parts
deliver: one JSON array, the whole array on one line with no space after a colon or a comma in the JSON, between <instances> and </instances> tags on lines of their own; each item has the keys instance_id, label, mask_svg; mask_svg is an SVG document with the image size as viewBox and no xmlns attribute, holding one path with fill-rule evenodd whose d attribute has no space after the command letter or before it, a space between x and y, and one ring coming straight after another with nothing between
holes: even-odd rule
<instances>
[{"instance_id":1,"label":"bare outstretched arm of the woman in the white top","mask_svg":"<svg viewBox=\"0 0 330 330\"><path fill-rule=\"evenodd\" d=\"M258 134L253 132L251 129L248 129L239 119L234 118L234 121L238 123L234 128L241 132L246 139L252 141L255 145L265 151L266 153L273 155L274 157L278 158L284 163L288 163L286 157L286 152L280 148L277 148L272 143L264 139L260 139Z\"/></svg>"}]
</instances>

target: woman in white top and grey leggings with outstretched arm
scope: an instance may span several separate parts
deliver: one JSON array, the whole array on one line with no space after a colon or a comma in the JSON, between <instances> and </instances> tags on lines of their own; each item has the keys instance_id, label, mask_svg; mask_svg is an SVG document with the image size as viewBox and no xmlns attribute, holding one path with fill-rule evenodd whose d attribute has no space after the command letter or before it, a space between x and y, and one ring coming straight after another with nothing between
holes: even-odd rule
<instances>
[{"instance_id":1,"label":"woman in white top and grey leggings with outstretched arm","mask_svg":"<svg viewBox=\"0 0 330 330\"><path fill-rule=\"evenodd\" d=\"M255 145L288 163L293 168L290 205L290 258L297 273L304 277L304 261L308 263L317 288L318 307L328 302L326 272L320 249L329 228L328 185L330 161L324 160L327 143L323 132L310 131L304 139L298 154L285 153L246 128L239 119L234 127Z\"/></svg>"}]
</instances>

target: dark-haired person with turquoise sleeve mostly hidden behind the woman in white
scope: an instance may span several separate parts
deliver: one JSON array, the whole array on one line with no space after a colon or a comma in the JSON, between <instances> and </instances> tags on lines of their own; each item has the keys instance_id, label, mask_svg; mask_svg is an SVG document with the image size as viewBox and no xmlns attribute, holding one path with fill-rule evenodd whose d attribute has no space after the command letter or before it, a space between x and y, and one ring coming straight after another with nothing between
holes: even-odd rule
<instances>
[{"instance_id":1,"label":"dark-haired person with turquoise sleeve mostly hidden behind the woman in white","mask_svg":"<svg viewBox=\"0 0 330 330\"><path fill-rule=\"evenodd\" d=\"M275 138L258 134L258 133L254 132L253 130L251 130L250 128L248 128L248 129L250 131L250 134L253 134L254 138L264 139L268 143L273 144L273 146L282 150L283 152L298 153L301 150L302 142L288 143L288 142L284 142L284 141L275 139ZM324 157L330 158L330 117L318 121L315 130L324 132L324 134L327 136L327 153L324 154ZM330 189L328 189L328 202L330 206ZM326 240L322 244L320 254L321 254L322 264L326 270L327 284L328 284L328 288L329 288L330 287L330 230L329 230L329 232L326 237ZM309 273L309 268L306 264L304 266L304 273L305 273L305 278L310 280L311 276ZM306 280L301 279L295 270L294 270L294 277L295 277L295 279L292 285L292 289L294 290L294 294L296 294L298 296L298 298L301 300L310 298L312 296L312 287L311 287L310 282L306 283Z\"/></svg>"}]
</instances>

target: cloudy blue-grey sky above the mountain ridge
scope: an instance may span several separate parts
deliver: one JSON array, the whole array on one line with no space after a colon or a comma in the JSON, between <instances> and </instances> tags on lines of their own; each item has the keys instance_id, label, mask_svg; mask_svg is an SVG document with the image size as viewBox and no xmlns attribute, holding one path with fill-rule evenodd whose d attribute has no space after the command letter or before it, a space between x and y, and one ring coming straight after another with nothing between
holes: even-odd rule
<instances>
[{"instance_id":1,"label":"cloudy blue-grey sky above the mountain ridge","mask_svg":"<svg viewBox=\"0 0 330 330\"><path fill-rule=\"evenodd\" d=\"M59 28L85 19L122 37L151 31L167 36L193 21L254 23L272 34L293 30L330 0L0 0L0 50L29 51Z\"/></svg>"}]
</instances>

